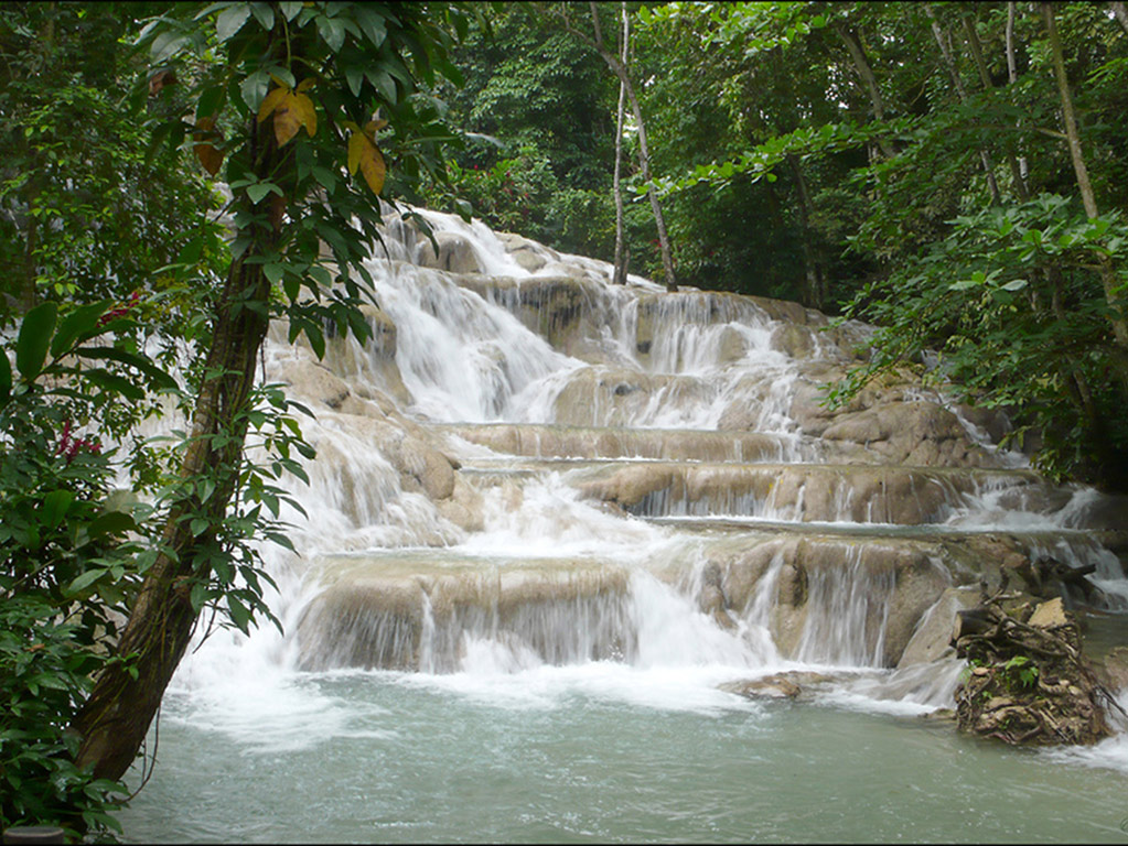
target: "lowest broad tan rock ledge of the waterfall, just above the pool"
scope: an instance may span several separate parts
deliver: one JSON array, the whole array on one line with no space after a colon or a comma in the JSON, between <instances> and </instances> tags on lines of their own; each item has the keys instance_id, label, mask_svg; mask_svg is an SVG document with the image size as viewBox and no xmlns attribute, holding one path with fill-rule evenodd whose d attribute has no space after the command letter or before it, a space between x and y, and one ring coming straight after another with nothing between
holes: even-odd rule
<instances>
[{"instance_id":1,"label":"lowest broad tan rock ledge of the waterfall, just above the pool","mask_svg":"<svg viewBox=\"0 0 1128 846\"><path fill-rule=\"evenodd\" d=\"M633 562L457 550L328 555L316 562L326 589L297 626L298 662L449 673L486 639L526 666L631 662L646 617L635 580L644 571L734 638L766 629L784 658L895 667L953 586L1024 589L1037 551L1004 534L860 543L749 531L689 537ZM984 561L995 562L989 572ZM831 627L848 634L827 636Z\"/></svg>"}]
</instances>

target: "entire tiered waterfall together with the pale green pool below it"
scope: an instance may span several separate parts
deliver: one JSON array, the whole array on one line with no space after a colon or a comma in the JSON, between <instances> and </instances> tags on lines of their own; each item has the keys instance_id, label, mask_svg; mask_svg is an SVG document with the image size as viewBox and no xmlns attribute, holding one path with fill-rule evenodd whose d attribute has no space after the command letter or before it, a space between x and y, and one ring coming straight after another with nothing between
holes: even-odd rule
<instances>
[{"instance_id":1,"label":"entire tiered waterfall together with the pale green pool below it","mask_svg":"<svg viewBox=\"0 0 1128 846\"><path fill-rule=\"evenodd\" d=\"M323 366L272 330L319 453L266 551L285 634L186 657L129 841L1128 840L1128 727L979 742L936 718L961 662L909 660L1004 553L1095 563L1128 642L1121 504L935 392L896 408L972 457L804 411L863 327L421 214L439 253L393 219L377 342ZM781 673L801 696L732 692Z\"/></svg>"}]
</instances>

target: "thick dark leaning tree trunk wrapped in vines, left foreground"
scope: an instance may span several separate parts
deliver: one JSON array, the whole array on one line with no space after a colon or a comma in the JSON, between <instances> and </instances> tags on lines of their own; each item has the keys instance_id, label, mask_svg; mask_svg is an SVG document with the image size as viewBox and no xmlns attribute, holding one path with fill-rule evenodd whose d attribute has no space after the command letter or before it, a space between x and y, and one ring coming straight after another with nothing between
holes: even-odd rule
<instances>
[{"instance_id":1,"label":"thick dark leaning tree trunk wrapped in vines, left foreground","mask_svg":"<svg viewBox=\"0 0 1128 846\"><path fill-rule=\"evenodd\" d=\"M276 171L284 170L287 162L270 126L266 123L254 130L261 151L254 168L259 173L275 173L276 180ZM248 248L247 255L232 262L218 297L192 437L179 469L182 481L208 477L215 489L206 501L193 493L170 508L160 554L146 573L118 641L117 654L126 664L109 665L103 671L72 724L80 738L77 763L92 765L96 777L121 778L135 759L196 625L199 613L192 607L191 588L211 577L215 531L238 484L247 430L243 412L268 328L265 308L253 306L266 305L270 282L262 264L246 259L268 250L276 229L276 223L274 231L263 229L257 249ZM199 526L197 518L203 518L208 528L194 534L192 526Z\"/></svg>"}]
</instances>

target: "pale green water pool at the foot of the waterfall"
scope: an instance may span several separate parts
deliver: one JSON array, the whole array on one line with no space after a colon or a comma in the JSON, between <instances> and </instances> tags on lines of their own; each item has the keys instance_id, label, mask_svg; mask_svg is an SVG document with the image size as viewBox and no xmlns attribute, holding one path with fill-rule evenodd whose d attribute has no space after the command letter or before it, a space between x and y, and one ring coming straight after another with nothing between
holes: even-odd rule
<instances>
[{"instance_id":1,"label":"pale green water pool at the foot of the waterfall","mask_svg":"<svg viewBox=\"0 0 1128 846\"><path fill-rule=\"evenodd\" d=\"M1123 734L1016 750L704 680L592 664L173 694L125 839L1128 843Z\"/></svg>"}]
</instances>

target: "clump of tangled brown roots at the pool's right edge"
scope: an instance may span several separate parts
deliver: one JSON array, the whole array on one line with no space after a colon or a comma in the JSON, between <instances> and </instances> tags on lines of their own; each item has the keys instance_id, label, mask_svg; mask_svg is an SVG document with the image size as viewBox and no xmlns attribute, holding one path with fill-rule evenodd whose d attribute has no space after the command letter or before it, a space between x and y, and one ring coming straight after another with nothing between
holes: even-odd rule
<instances>
[{"instance_id":1,"label":"clump of tangled brown roots at the pool's right edge","mask_svg":"<svg viewBox=\"0 0 1128 846\"><path fill-rule=\"evenodd\" d=\"M953 641L969 664L955 692L962 731L1031 746L1091 745L1112 733L1104 712L1111 697L1060 598L1010 613L997 602L962 612Z\"/></svg>"}]
</instances>

